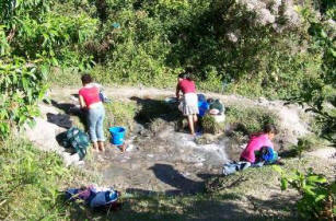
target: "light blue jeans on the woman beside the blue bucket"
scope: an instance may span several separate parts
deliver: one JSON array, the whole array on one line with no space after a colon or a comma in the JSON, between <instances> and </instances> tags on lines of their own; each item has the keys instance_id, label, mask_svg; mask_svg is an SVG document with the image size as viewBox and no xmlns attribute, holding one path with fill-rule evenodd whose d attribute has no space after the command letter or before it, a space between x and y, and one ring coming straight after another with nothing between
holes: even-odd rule
<instances>
[{"instance_id":1,"label":"light blue jeans on the woman beside the blue bucket","mask_svg":"<svg viewBox=\"0 0 336 221\"><path fill-rule=\"evenodd\" d=\"M105 109L103 104L88 112L89 135L92 142L105 141L104 137Z\"/></svg>"}]
</instances>

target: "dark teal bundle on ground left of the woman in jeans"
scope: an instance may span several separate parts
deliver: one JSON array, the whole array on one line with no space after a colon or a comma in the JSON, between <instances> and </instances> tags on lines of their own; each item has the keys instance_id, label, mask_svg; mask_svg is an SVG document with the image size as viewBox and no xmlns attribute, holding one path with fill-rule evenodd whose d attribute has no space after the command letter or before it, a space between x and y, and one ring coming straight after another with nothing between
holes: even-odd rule
<instances>
[{"instance_id":1,"label":"dark teal bundle on ground left of the woman in jeans","mask_svg":"<svg viewBox=\"0 0 336 221\"><path fill-rule=\"evenodd\" d=\"M86 155L86 149L90 144L89 136L77 127L71 127L63 140L63 147L72 148L76 153L79 154L82 160Z\"/></svg>"}]
</instances>

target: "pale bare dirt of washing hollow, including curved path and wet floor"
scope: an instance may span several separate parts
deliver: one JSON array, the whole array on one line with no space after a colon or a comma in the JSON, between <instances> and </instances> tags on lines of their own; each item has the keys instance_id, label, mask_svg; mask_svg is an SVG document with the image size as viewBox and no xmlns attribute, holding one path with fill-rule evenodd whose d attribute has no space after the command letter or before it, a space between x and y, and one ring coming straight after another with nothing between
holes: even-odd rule
<instances>
[{"instance_id":1,"label":"pale bare dirt of washing hollow, including curved path and wet floor","mask_svg":"<svg viewBox=\"0 0 336 221\"><path fill-rule=\"evenodd\" d=\"M77 105L76 94L78 89L51 89L48 96L59 104ZM174 96L170 90L137 89L137 88L108 88L106 94L114 101L129 102L131 97L163 98ZM223 104L241 106L257 106L273 111L279 117L282 133L276 140L278 146L296 143L297 138L309 135L309 125L305 121L304 111L297 105L283 105L282 101L267 101L265 98L250 100L236 95L222 95L206 93L207 97L220 98ZM62 107L67 107L62 106ZM63 108L62 108L63 109ZM221 165L230 160L237 160L240 152L245 147L230 137L209 136L209 144L198 144L197 139L186 132L177 132L174 124L165 121L158 131L152 132L139 123L135 123L135 130L127 135L127 149L120 153L118 147L107 142L104 153L90 152L83 162L78 161L67 153L57 143L55 137L65 131L46 121L47 113L62 113L59 106L40 104L42 117L37 119L37 126L27 131L28 138L45 151L56 151L65 159L67 165L74 164L88 174L99 177L99 183L104 186L113 186L126 193L135 194L197 194L205 188L205 182L209 177L221 174ZM77 116L72 116L73 119ZM78 120L78 119L77 119ZM76 120L74 120L76 121ZM48 129L45 129L48 128ZM34 138L34 139L32 139ZM279 149L279 148L278 148ZM335 151L333 149L317 150L316 154L323 166L335 168ZM271 191L260 188L251 193L250 198L236 201L241 207L246 206L253 211L251 197L263 199L290 197L292 193L283 196L277 181L273 181ZM263 208L259 206L259 208ZM220 209L220 208L218 208ZM228 209L228 208L227 208ZM277 216L275 213L275 216Z\"/></svg>"}]
</instances>

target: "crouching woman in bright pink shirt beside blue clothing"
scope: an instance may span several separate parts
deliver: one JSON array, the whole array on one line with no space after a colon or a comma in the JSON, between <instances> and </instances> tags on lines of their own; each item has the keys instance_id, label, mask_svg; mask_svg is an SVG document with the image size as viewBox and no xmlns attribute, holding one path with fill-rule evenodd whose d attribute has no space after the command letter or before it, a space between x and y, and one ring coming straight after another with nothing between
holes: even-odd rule
<instances>
[{"instance_id":1,"label":"crouching woman in bright pink shirt beside blue clothing","mask_svg":"<svg viewBox=\"0 0 336 221\"><path fill-rule=\"evenodd\" d=\"M266 124L264 126L264 132L251 136L247 147L241 154L241 161L247 161L255 163L255 151L259 151L263 147L269 147L274 149L271 140L277 133L277 129L274 125Z\"/></svg>"}]
</instances>

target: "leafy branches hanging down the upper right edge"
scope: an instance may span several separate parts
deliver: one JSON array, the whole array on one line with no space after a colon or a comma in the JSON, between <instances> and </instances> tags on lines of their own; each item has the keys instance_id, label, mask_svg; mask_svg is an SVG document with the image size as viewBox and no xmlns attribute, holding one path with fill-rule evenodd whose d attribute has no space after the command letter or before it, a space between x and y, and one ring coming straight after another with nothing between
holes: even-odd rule
<instances>
[{"instance_id":1,"label":"leafy branches hanging down the upper right edge","mask_svg":"<svg viewBox=\"0 0 336 221\"><path fill-rule=\"evenodd\" d=\"M326 22L329 14L336 10L335 3L321 1L324 11L322 16L317 16L312 9L314 4L308 1L298 11L302 14L308 24L308 33L311 37L310 54L321 57L321 68L317 70L317 77L305 79L304 90L297 96L291 97L291 102L308 104L308 112L316 114L316 119L322 124L321 136L332 143L336 143L336 45L335 30ZM318 4L317 4L318 5Z\"/></svg>"}]
</instances>

